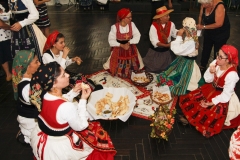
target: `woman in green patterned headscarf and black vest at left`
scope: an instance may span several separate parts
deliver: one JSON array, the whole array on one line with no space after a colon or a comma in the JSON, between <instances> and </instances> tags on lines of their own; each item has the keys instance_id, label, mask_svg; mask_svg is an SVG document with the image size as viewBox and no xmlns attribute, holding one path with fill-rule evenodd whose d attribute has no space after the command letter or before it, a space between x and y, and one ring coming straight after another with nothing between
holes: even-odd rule
<instances>
[{"instance_id":1,"label":"woman in green patterned headscarf and black vest at left","mask_svg":"<svg viewBox=\"0 0 240 160\"><path fill-rule=\"evenodd\" d=\"M38 110L29 100L29 90L32 75L39 66L38 57L30 50L19 51L13 59L12 82L20 127L16 138L21 143L30 143L31 132L37 125Z\"/></svg>"}]
</instances>

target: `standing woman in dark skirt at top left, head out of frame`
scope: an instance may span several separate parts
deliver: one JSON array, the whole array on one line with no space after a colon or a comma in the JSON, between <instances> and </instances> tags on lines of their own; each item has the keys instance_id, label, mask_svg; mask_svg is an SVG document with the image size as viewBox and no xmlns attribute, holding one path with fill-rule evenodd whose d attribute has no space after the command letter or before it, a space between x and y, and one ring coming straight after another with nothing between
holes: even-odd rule
<instances>
[{"instance_id":1,"label":"standing woman in dark skirt at top left, head out of frame","mask_svg":"<svg viewBox=\"0 0 240 160\"><path fill-rule=\"evenodd\" d=\"M46 40L41 30L34 24L39 13L32 0L8 0L12 12L11 25L12 57L20 50L33 50L42 62L42 49Z\"/></svg>"}]
</instances>

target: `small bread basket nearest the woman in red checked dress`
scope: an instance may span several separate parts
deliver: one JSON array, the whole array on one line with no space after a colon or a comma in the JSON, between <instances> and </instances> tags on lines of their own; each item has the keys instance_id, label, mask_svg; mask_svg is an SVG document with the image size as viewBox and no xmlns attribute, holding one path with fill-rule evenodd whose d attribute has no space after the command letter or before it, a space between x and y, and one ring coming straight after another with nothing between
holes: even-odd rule
<instances>
[{"instance_id":1,"label":"small bread basket nearest the woman in red checked dress","mask_svg":"<svg viewBox=\"0 0 240 160\"><path fill-rule=\"evenodd\" d=\"M131 74L131 81L136 86L147 86L153 80L153 75L144 71L135 71Z\"/></svg>"}]
</instances>

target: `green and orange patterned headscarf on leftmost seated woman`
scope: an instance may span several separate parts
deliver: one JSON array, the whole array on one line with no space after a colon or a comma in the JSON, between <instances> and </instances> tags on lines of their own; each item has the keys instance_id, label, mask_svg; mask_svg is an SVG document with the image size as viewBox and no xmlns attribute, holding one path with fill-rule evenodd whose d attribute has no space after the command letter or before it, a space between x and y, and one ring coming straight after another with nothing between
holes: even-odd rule
<instances>
[{"instance_id":1,"label":"green and orange patterned headscarf on leftmost seated woman","mask_svg":"<svg viewBox=\"0 0 240 160\"><path fill-rule=\"evenodd\" d=\"M12 85L14 92L14 99L18 99L17 85L22 80L23 74L26 72L28 65L34 58L32 50L21 50L17 52L13 59L12 65Z\"/></svg>"}]
</instances>

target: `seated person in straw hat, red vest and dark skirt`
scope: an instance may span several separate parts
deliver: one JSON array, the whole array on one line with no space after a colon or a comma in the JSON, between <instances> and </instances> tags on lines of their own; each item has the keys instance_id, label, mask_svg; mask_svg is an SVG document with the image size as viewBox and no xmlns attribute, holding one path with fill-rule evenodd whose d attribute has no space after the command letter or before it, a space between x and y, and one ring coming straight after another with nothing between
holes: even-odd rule
<instances>
[{"instance_id":1,"label":"seated person in straw hat, red vest and dark skirt","mask_svg":"<svg viewBox=\"0 0 240 160\"><path fill-rule=\"evenodd\" d=\"M160 73L164 71L173 61L170 51L171 38L176 38L177 30L171 22L169 14L173 9L165 6L156 10L149 31L151 46L143 62L147 72Z\"/></svg>"}]
</instances>

